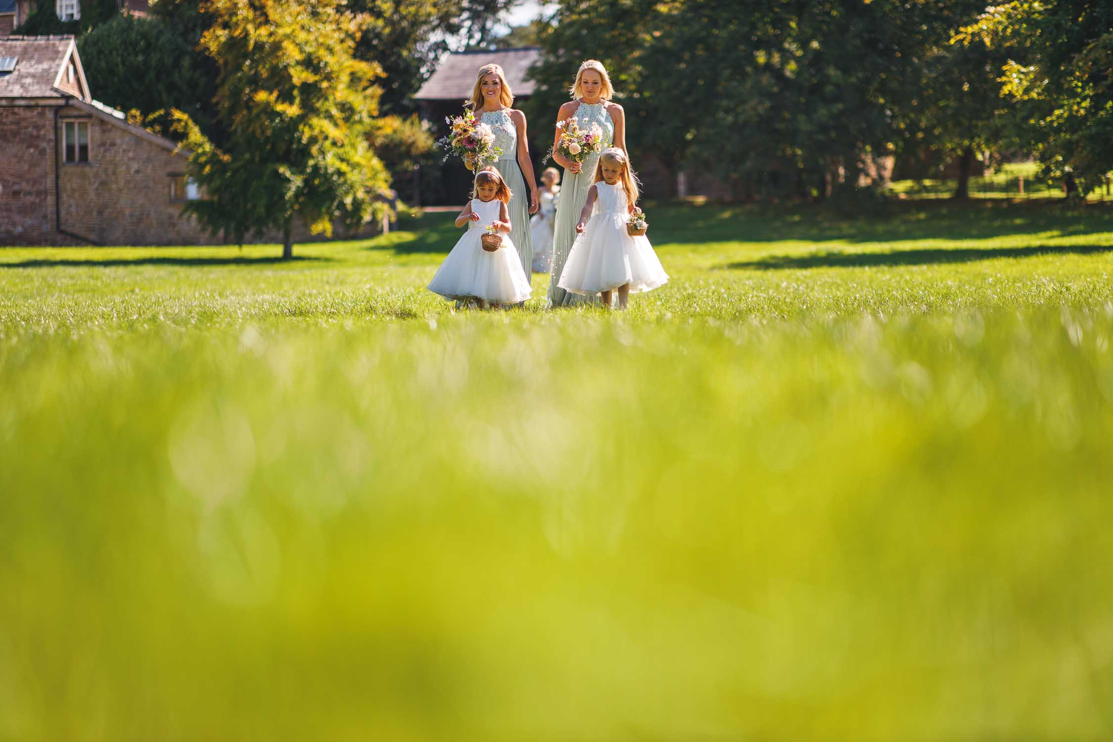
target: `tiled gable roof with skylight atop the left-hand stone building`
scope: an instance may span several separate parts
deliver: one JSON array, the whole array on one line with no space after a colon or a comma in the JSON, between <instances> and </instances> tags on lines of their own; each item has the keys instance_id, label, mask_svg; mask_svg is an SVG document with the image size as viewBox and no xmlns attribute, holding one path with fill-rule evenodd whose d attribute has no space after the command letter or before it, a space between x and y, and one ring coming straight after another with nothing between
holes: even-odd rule
<instances>
[{"instance_id":1,"label":"tiled gable roof with skylight atop the left-hand stone building","mask_svg":"<svg viewBox=\"0 0 1113 742\"><path fill-rule=\"evenodd\" d=\"M0 37L0 57L18 57L16 69L0 77L0 98L62 98L91 100L72 36ZM72 88L67 67L72 61ZM62 86L62 87L60 87Z\"/></svg>"}]
</instances>

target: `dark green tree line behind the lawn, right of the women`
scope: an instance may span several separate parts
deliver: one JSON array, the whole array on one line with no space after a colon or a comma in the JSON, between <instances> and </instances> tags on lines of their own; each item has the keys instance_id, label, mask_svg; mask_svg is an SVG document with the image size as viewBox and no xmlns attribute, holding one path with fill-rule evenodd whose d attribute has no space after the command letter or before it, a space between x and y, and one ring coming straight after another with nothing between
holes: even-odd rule
<instances>
[{"instance_id":1,"label":"dark green tree line behind the lawn, right of the women","mask_svg":"<svg viewBox=\"0 0 1113 742\"><path fill-rule=\"evenodd\" d=\"M549 21L531 113L599 58L639 157L739 196L854 191L885 155L956 157L958 197L983 149L1032 154L1071 192L1113 170L1110 2L560 0Z\"/></svg>"}]
</instances>

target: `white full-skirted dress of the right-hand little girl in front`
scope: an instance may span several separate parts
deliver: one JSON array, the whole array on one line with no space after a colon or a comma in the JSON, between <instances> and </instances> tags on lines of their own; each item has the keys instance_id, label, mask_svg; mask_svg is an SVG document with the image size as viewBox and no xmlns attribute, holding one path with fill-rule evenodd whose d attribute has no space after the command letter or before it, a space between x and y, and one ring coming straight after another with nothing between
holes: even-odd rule
<instances>
[{"instance_id":1,"label":"white full-skirted dress of the right-hand little girl in front","mask_svg":"<svg viewBox=\"0 0 1113 742\"><path fill-rule=\"evenodd\" d=\"M598 294L630 284L630 293L649 291L669 280L646 236L627 233L622 184L595 184L598 196L585 229L568 255L558 286L574 294Z\"/></svg>"}]
</instances>

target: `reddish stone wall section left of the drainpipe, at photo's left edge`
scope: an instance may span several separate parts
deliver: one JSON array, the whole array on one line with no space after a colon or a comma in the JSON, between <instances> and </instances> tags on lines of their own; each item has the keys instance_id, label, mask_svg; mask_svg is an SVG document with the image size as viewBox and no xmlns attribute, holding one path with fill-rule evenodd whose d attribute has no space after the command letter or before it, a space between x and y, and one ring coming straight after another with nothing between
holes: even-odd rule
<instances>
[{"instance_id":1,"label":"reddish stone wall section left of the drainpipe, at photo's left edge","mask_svg":"<svg viewBox=\"0 0 1113 742\"><path fill-rule=\"evenodd\" d=\"M0 107L0 245L51 241L53 109Z\"/></svg>"}]
</instances>

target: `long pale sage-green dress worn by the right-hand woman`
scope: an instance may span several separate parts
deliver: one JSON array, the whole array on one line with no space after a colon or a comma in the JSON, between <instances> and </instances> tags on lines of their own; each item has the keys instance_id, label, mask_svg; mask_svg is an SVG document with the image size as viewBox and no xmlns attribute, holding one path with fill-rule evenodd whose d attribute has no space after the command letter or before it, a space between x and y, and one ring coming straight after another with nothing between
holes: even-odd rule
<instances>
[{"instance_id":1,"label":"long pale sage-green dress worn by the right-hand woman","mask_svg":"<svg viewBox=\"0 0 1113 742\"><path fill-rule=\"evenodd\" d=\"M607 103L580 103L573 113L579 119L580 128L585 129L598 123L603 130L603 149L614 142L614 121L607 112ZM600 150L601 151L601 150ZM575 241L575 225L580 221L580 211L588 202L588 189L595 178L595 166L599 165L599 154L589 155L581 164L579 172L564 170L561 180L560 201L556 204L556 224L553 226L553 264L549 274L549 300L545 306L567 307L574 304L593 304L599 296L583 296L565 291L558 286L560 274L564 270L568 254Z\"/></svg>"}]
</instances>

